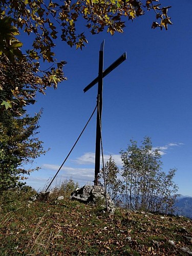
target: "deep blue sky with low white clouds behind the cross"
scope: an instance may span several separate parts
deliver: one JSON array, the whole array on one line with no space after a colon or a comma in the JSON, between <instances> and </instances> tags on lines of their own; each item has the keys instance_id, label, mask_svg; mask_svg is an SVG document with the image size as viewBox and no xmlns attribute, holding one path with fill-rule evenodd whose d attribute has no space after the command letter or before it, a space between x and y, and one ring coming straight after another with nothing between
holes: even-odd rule
<instances>
[{"instance_id":1,"label":"deep blue sky with low white clouds behind the cross","mask_svg":"<svg viewBox=\"0 0 192 256\"><path fill-rule=\"evenodd\" d=\"M39 138L51 150L36 159L41 166L27 180L42 189L53 177L88 121L96 105L97 85L83 93L98 75L100 44L105 39L104 69L125 51L127 59L103 79L102 140L104 158L110 154L121 167L119 151L130 139L152 138L162 152L163 170L176 167L175 182L179 193L192 196L192 72L191 72L191 0L161 1L168 10L172 26L168 30L151 29L155 13L147 12L133 23L126 22L123 34L86 32L89 44L82 51L57 43L57 59L66 60L67 81L57 90L38 95L37 103L28 108L31 114L44 109ZM81 24L82 26L82 24ZM82 28L82 27L81 27ZM73 177L80 185L93 184L96 114L81 136L57 184Z\"/></svg>"}]
</instances>

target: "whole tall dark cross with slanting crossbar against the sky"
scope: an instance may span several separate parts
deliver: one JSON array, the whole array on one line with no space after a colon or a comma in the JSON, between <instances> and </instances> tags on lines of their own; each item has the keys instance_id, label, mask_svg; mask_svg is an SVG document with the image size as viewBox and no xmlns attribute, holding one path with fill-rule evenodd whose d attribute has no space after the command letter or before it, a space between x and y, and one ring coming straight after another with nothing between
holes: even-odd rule
<instances>
[{"instance_id":1,"label":"whole tall dark cross with slanting crossbar against the sky","mask_svg":"<svg viewBox=\"0 0 192 256\"><path fill-rule=\"evenodd\" d=\"M97 93L97 126L96 126L96 146L95 146L95 179L94 185L98 185L98 174L100 172L100 146L101 146L101 114L102 114L102 90L103 90L103 77L108 75L112 70L119 66L126 59L126 52L123 53L115 62L112 63L107 69L103 71L103 51L104 51L104 40L101 44L99 51L99 73L86 88L84 93L87 92L98 82L98 93Z\"/></svg>"}]
</instances>

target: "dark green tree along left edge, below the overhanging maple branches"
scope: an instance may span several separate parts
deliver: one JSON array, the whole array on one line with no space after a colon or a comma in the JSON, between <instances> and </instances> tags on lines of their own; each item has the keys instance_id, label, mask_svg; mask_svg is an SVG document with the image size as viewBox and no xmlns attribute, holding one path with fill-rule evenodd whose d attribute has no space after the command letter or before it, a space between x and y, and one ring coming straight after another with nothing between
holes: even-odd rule
<instances>
[{"instance_id":1,"label":"dark green tree along left edge, below the overhanging maple branches","mask_svg":"<svg viewBox=\"0 0 192 256\"><path fill-rule=\"evenodd\" d=\"M41 111L31 117L24 109L35 102L38 79L29 71L28 63L15 62L11 67L9 61L6 65L5 59L1 60L4 90L0 90L0 191L24 184L20 180L34 169L26 169L23 165L46 152L36 136ZM28 80L36 81L33 90L28 88Z\"/></svg>"}]
</instances>

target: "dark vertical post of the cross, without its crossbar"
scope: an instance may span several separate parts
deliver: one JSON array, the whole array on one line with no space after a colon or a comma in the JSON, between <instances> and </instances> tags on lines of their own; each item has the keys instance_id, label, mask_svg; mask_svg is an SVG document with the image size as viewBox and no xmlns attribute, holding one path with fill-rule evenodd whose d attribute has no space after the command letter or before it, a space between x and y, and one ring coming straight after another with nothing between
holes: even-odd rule
<instances>
[{"instance_id":1,"label":"dark vertical post of the cross, without its crossbar","mask_svg":"<svg viewBox=\"0 0 192 256\"><path fill-rule=\"evenodd\" d=\"M100 145L101 145L101 115L102 115L102 90L103 90L103 50L104 41L99 51L99 73L98 73L98 93L97 93L97 126L95 145L95 179L94 185L98 186L98 174L100 172Z\"/></svg>"}]
</instances>

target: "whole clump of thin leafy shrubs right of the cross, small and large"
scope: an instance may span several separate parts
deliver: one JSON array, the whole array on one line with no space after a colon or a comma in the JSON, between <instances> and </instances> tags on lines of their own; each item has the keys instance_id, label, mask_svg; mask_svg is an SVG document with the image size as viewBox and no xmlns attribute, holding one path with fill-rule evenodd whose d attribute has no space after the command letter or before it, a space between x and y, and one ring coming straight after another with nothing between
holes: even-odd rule
<instances>
[{"instance_id":1,"label":"whole clump of thin leafy shrubs right of the cross, small and large","mask_svg":"<svg viewBox=\"0 0 192 256\"><path fill-rule=\"evenodd\" d=\"M141 146L131 140L120 154L121 170L112 157L104 166L106 190L113 200L131 210L172 213L178 191L173 180L177 169L163 172L161 153L153 148L151 138L144 137ZM104 177L103 169L100 177Z\"/></svg>"}]
</instances>

